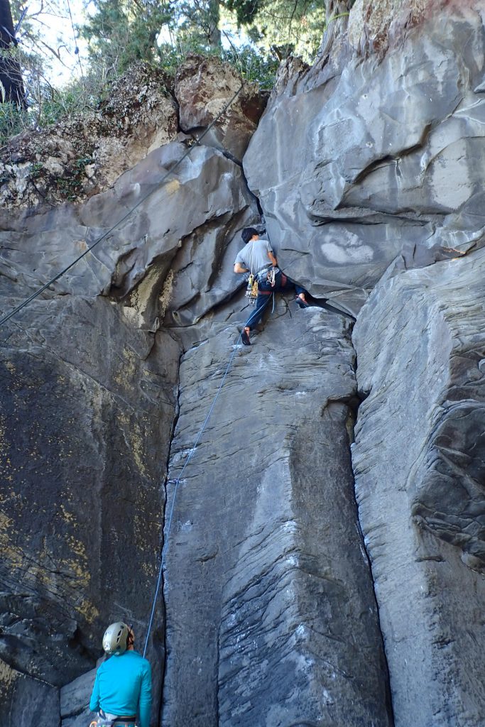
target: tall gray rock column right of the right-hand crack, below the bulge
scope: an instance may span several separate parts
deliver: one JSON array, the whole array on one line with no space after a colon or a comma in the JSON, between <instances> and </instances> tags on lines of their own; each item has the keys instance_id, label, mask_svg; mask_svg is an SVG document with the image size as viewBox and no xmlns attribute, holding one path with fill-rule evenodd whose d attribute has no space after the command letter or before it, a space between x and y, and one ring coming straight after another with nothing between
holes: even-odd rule
<instances>
[{"instance_id":1,"label":"tall gray rock column right of the right-hand crack, below the bulge","mask_svg":"<svg viewBox=\"0 0 485 727\"><path fill-rule=\"evenodd\" d=\"M483 721L484 265L378 285L354 331L353 465L396 727Z\"/></svg>"}]
</instances>

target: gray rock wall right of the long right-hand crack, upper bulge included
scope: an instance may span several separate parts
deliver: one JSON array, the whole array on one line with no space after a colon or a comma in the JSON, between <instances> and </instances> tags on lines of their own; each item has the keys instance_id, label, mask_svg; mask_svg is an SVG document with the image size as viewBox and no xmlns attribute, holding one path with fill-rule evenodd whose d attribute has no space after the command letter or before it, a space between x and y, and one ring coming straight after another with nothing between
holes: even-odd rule
<instances>
[{"instance_id":1,"label":"gray rock wall right of the long right-hand crack, upper bulge included","mask_svg":"<svg viewBox=\"0 0 485 727\"><path fill-rule=\"evenodd\" d=\"M340 44L326 65L285 66L244 169L285 270L357 316L353 469L395 723L470 727L484 711L483 8L394 5L350 12L361 55Z\"/></svg>"}]
</instances>

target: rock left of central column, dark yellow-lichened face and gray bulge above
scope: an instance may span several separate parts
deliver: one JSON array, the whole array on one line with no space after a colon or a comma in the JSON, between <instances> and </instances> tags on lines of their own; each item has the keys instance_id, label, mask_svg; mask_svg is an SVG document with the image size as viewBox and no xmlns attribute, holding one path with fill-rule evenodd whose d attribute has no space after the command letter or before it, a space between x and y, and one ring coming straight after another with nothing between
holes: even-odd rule
<instances>
[{"instance_id":1,"label":"rock left of central column, dark yellow-lichened face and gray bulge above","mask_svg":"<svg viewBox=\"0 0 485 727\"><path fill-rule=\"evenodd\" d=\"M1 213L2 314L100 241L1 328L1 724L81 723L77 697L60 712L59 690L94 666L113 619L134 622L143 648L180 357L160 320L198 247L211 252L187 278L207 290L188 296L198 315L230 294L211 276L257 220L240 166L187 150L153 150L84 204ZM154 721L160 606L148 651ZM19 711L24 698L34 712Z\"/></svg>"}]
</instances>

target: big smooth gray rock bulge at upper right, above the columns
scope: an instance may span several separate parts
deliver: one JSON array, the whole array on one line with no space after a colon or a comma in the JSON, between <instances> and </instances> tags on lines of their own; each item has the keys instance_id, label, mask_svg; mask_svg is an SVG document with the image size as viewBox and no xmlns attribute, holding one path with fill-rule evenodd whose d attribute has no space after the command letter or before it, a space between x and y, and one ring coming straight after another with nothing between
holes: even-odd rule
<instances>
[{"instance_id":1,"label":"big smooth gray rock bulge at upper right, above the columns","mask_svg":"<svg viewBox=\"0 0 485 727\"><path fill-rule=\"evenodd\" d=\"M280 262L353 313L396 258L420 266L483 237L483 23L444 5L380 62L300 77L244 156Z\"/></svg>"}]
</instances>

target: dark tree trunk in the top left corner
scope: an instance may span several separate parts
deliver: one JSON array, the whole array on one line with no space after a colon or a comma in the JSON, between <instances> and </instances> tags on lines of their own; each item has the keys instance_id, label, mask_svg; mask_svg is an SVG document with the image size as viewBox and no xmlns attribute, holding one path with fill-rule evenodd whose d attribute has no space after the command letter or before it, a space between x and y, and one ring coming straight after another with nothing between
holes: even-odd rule
<instances>
[{"instance_id":1,"label":"dark tree trunk in the top left corner","mask_svg":"<svg viewBox=\"0 0 485 727\"><path fill-rule=\"evenodd\" d=\"M20 64L11 53L16 44L9 0L0 0L0 101L26 108Z\"/></svg>"}]
</instances>

